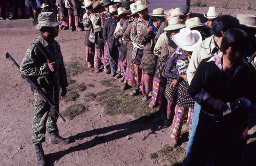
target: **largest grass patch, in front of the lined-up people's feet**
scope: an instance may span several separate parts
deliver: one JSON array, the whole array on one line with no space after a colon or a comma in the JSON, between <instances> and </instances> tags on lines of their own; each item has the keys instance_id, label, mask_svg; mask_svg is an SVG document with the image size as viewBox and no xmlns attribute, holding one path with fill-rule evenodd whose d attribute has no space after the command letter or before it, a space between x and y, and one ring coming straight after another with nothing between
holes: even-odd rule
<instances>
[{"instance_id":1,"label":"largest grass patch, in front of the lined-up people's feet","mask_svg":"<svg viewBox=\"0 0 256 166\"><path fill-rule=\"evenodd\" d=\"M140 118L157 112L157 107L148 107L151 99L148 99L147 102L142 102L141 95L131 96L130 91L121 91L118 86L112 86L108 90L97 93L96 101L104 107L105 114L112 116L130 114L135 118ZM155 123L158 122L157 120L155 121Z\"/></svg>"}]
</instances>

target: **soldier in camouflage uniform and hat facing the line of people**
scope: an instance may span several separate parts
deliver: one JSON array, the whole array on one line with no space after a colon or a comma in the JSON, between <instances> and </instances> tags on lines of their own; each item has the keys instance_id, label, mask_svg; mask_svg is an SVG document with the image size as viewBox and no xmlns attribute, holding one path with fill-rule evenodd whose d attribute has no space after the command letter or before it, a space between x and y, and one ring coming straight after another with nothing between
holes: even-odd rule
<instances>
[{"instance_id":1,"label":"soldier in camouflage uniform and hat facing the line of people","mask_svg":"<svg viewBox=\"0 0 256 166\"><path fill-rule=\"evenodd\" d=\"M35 29L41 35L29 45L25 57L20 65L20 72L30 76L31 79L46 93L56 110L59 110L58 95L67 93L68 81L63 57L59 44L54 40L58 36L59 23L52 12L43 12L38 16ZM47 56L44 56L44 53ZM48 57L50 60L48 60ZM32 141L36 147L37 165L45 165L44 151L41 143L45 142L46 131L50 134L50 144L69 144L68 139L63 139L58 134L58 115L51 106L44 101L37 90L34 94L34 117L32 126Z\"/></svg>"}]
</instances>

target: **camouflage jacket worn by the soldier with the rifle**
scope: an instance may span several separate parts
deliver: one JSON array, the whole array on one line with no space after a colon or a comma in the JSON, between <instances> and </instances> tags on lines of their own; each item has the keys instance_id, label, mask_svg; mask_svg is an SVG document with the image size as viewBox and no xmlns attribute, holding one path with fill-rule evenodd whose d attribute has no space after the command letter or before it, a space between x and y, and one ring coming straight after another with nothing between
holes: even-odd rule
<instances>
[{"instance_id":1,"label":"camouflage jacket worn by the soldier with the rifle","mask_svg":"<svg viewBox=\"0 0 256 166\"><path fill-rule=\"evenodd\" d=\"M36 46L34 43L35 41L39 41L42 44L42 47L45 48L45 51L48 53L50 59L53 62L56 62L58 72L55 77L48 67L46 57L39 50L38 46ZM67 72L59 44L53 38L48 39L42 34L35 38L34 42L29 45L25 53L25 57L20 65L20 72L34 78L39 76L47 76L50 78L54 77L55 84L60 87L68 87Z\"/></svg>"}]
</instances>

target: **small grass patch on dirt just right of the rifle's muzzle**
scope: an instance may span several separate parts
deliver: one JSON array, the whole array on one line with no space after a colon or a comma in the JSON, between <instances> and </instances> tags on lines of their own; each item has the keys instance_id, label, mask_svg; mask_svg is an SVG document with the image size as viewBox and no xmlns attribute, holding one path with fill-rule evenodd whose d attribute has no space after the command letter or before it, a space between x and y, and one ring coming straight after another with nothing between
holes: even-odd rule
<instances>
[{"instance_id":1,"label":"small grass patch on dirt just right of the rifle's muzzle","mask_svg":"<svg viewBox=\"0 0 256 166\"><path fill-rule=\"evenodd\" d=\"M85 111L88 111L89 109L81 104L74 104L71 106L68 106L65 110L62 111L62 115L68 119L73 119L77 115L82 114Z\"/></svg>"}]
</instances>

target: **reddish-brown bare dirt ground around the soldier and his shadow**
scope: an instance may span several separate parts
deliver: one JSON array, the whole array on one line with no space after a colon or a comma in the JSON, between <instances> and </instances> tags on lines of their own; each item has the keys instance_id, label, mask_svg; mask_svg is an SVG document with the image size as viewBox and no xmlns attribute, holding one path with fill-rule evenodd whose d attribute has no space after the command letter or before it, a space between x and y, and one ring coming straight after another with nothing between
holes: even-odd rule
<instances>
[{"instance_id":1,"label":"reddish-brown bare dirt ground around the soldier and his shadow","mask_svg":"<svg viewBox=\"0 0 256 166\"><path fill-rule=\"evenodd\" d=\"M207 10L191 8L197 13ZM20 64L28 45L38 35L39 31L35 29L0 29L0 165L36 165L35 149L31 142L32 92L16 66L5 58L5 52L8 51ZM56 40L61 46L65 63L84 60L84 32L60 31ZM120 82L113 81L109 75L95 73L93 69L85 70L71 79L76 80L77 84L83 82L94 86L78 92L80 97L75 101L60 101L60 110L74 103L80 103L88 110L72 120L67 119L67 122L58 120L60 135L69 137L71 144L49 145L49 136L46 135L43 148L48 165L169 165L167 161L159 162L148 157L168 144L168 128L156 130L151 123L142 123L133 115L105 115L104 107L97 101L87 102L81 97L108 89L99 83L101 80L110 80L118 86L121 86ZM128 135L130 140L126 140ZM186 143L181 146L185 147ZM251 150L252 158L255 149Z\"/></svg>"}]
</instances>

